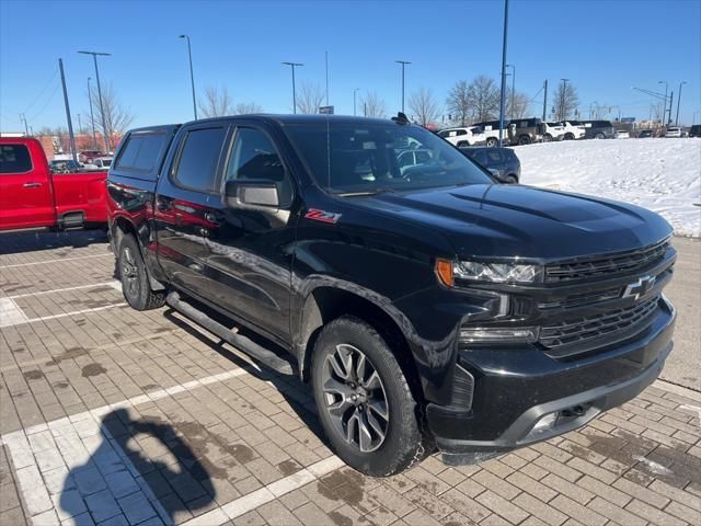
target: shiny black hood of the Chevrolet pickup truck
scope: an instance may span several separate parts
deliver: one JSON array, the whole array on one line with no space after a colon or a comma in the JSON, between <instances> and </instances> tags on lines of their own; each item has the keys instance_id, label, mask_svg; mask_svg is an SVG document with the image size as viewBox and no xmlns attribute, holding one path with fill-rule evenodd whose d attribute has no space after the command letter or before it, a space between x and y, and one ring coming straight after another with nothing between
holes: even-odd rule
<instances>
[{"instance_id":1,"label":"shiny black hood of the Chevrolet pickup truck","mask_svg":"<svg viewBox=\"0 0 701 526\"><path fill-rule=\"evenodd\" d=\"M634 250L671 233L660 216L634 205L521 185L386 193L354 204L444 233L461 258L545 263Z\"/></svg>"}]
</instances>

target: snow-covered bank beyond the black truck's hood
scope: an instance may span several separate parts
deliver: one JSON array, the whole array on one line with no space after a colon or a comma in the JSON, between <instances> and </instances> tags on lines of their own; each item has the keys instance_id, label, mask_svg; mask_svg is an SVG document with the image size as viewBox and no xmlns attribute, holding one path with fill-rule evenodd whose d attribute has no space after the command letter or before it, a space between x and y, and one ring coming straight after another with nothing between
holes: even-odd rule
<instances>
[{"instance_id":1,"label":"snow-covered bank beyond the black truck's hood","mask_svg":"<svg viewBox=\"0 0 701 526\"><path fill-rule=\"evenodd\" d=\"M701 237L701 139L567 140L515 148L521 183L625 201Z\"/></svg>"}]
</instances>

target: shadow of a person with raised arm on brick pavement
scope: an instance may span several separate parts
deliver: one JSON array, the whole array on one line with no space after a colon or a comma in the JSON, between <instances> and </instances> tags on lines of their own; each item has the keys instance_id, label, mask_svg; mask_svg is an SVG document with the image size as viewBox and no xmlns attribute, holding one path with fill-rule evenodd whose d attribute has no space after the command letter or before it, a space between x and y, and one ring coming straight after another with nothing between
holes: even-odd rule
<instances>
[{"instance_id":1,"label":"shadow of a person with raised arm on brick pavement","mask_svg":"<svg viewBox=\"0 0 701 526\"><path fill-rule=\"evenodd\" d=\"M134 420L126 409L117 409L102 419L100 432L102 442L70 470L57 503L73 524L118 521L119 515L129 524L158 522L159 516L175 524L179 512L210 507L216 496L211 477L172 425ZM151 446L157 459L134 447L137 436L157 442Z\"/></svg>"}]
</instances>

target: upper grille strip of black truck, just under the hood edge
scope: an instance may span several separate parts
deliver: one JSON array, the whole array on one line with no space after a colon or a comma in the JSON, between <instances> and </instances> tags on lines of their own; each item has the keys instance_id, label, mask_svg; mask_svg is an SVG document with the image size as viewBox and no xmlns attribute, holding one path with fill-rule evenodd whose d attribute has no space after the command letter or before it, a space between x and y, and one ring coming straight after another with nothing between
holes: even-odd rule
<instances>
[{"instance_id":1,"label":"upper grille strip of black truck, just under the hood edge","mask_svg":"<svg viewBox=\"0 0 701 526\"><path fill-rule=\"evenodd\" d=\"M562 283L637 271L660 261L668 247L669 240L665 239L644 249L619 252L604 258L547 265L545 282Z\"/></svg>"}]
</instances>

